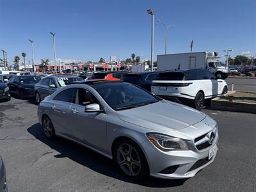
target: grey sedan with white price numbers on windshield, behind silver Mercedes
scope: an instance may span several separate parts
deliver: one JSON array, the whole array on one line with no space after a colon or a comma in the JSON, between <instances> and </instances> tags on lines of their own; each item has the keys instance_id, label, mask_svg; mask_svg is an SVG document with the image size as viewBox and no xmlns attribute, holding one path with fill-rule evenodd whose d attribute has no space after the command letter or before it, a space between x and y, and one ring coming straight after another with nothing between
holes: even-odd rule
<instances>
[{"instance_id":1,"label":"grey sedan with white price numbers on windshield, behind silver Mercedes","mask_svg":"<svg viewBox=\"0 0 256 192\"><path fill-rule=\"evenodd\" d=\"M81 77L72 75L57 75L44 77L44 79L36 83L34 87L36 103L39 104L41 100L43 100L48 95L51 95L59 88L66 86L67 83L83 80L84 79L82 79Z\"/></svg>"}]
</instances>

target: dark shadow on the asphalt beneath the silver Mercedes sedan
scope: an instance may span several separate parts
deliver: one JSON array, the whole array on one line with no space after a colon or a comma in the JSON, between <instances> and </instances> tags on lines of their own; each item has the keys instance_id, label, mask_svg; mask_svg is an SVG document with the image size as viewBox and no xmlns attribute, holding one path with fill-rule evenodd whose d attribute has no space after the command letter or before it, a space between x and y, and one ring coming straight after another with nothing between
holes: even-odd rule
<instances>
[{"instance_id":1,"label":"dark shadow on the asphalt beneath the silver Mercedes sedan","mask_svg":"<svg viewBox=\"0 0 256 192\"><path fill-rule=\"evenodd\" d=\"M71 141L65 140L63 138L48 140L44 136L44 132L42 131L40 124L32 125L27 130L30 134L35 136L37 140L42 141L43 143L60 153L58 155L55 155L54 157L68 157L69 159L76 161L76 163L86 166L100 174L107 175L108 177L113 177L115 179L123 180L125 182L131 182L151 188L169 188L174 186L180 186L186 181L186 179L166 180L156 179L152 177L148 177L148 179L140 182L134 181L122 175L111 159L108 159L107 157L104 157L97 152L93 152L93 150L90 150Z\"/></svg>"}]
</instances>

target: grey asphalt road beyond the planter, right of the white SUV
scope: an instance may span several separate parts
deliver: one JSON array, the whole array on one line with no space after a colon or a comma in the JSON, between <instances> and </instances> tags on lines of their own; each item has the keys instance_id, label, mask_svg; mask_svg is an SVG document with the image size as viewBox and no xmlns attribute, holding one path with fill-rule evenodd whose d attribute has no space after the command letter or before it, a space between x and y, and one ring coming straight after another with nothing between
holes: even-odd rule
<instances>
[{"instance_id":1,"label":"grey asphalt road beyond the planter, right of the white SUV","mask_svg":"<svg viewBox=\"0 0 256 192\"><path fill-rule=\"evenodd\" d=\"M256 92L256 78L241 78L231 77L225 79L228 84L228 90L232 89L234 84L234 90L243 92Z\"/></svg>"}]
</instances>

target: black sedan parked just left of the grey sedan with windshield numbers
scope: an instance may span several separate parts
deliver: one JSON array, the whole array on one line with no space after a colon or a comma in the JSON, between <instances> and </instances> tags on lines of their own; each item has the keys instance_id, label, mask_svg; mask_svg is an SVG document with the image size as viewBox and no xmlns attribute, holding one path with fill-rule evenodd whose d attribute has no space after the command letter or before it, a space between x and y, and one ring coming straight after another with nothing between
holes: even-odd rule
<instances>
[{"instance_id":1,"label":"black sedan parked just left of the grey sedan with windshield numbers","mask_svg":"<svg viewBox=\"0 0 256 192\"><path fill-rule=\"evenodd\" d=\"M25 97L34 97L34 86L40 81L38 76L13 76L9 79L7 85L10 88L10 92L18 95L20 99Z\"/></svg>"}]
</instances>

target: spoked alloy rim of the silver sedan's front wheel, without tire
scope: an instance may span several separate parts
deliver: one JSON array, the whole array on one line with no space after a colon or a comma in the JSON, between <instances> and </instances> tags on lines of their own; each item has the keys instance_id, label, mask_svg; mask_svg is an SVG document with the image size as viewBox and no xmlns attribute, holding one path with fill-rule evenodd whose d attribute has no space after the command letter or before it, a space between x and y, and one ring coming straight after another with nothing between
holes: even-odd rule
<instances>
[{"instance_id":1,"label":"spoked alloy rim of the silver sedan's front wheel, without tire","mask_svg":"<svg viewBox=\"0 0 256 192\"><path fill-rule=\"evenodd\" d=\"M123 172L129 176L136 176L141 170L141 160L137 150L127 143L118 147L117 163Z\"/></svg>"}]
</instances>

